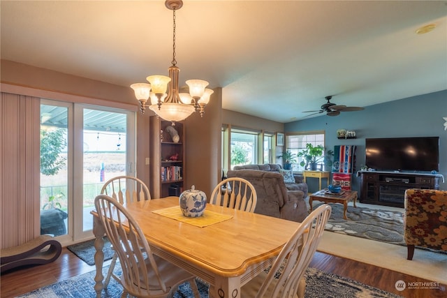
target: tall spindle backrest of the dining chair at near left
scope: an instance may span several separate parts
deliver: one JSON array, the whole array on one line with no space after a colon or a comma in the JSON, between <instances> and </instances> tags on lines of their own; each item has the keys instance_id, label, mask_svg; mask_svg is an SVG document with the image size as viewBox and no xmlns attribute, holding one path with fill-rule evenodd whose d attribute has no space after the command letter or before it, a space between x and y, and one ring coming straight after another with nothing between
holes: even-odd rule
<instances>
[{"instance_id":1,"label":"tall spindle backrest of the dining chair at near left","mask_svg":"<svg viewBox=\"0 0 447 298\"><path fill-rule=\"evenodd\" d=\"M169 289L161 280L145 235L122 204L108 195L98 195L95 198L95 207L105 233L118 255L122 267L121 282L127 292L137 297L148 296L148 289L153 288L162 289L164 294L168 293ZM163 293L159 292L158 295Z\"/></svg>"}]
</instances>

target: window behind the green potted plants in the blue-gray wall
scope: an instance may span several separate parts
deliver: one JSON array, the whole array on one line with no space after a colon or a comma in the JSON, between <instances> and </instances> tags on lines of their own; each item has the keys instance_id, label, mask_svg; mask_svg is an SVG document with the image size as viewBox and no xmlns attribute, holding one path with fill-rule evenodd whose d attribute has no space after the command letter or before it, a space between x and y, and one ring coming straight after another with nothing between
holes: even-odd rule
<instances>
[{"instance_id":1,"label":"window behind the green potted plants in the blue-gray wall","mask_svg":"<svg viewBox=\"0 0 447 298\"><path fill-rule=\"evenodd\" d=\"M312 144L314 146L325 145L325 133L324 131L304 132L304 133L291 133L286 135L287 150L290 150L293 154L297 154L306 148L306 144ZM305 166L300 165L305 158L298 156L296 163L292 164L292 170L294 172L302 172ZM306 162L306 161L305 161ZM318 163L318 170L324 170L323 160Z\"/></svg>"}]
</instances>

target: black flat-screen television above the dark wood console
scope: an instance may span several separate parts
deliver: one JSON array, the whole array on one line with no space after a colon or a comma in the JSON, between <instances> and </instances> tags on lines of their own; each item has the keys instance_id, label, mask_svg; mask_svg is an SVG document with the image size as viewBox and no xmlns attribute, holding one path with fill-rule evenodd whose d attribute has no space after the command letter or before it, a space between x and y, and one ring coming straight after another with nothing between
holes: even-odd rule
<instances>
[{"instance_id":1,"label":"black flat-screen television above the dark wood console","mask_svg":"<svg viewBox=\"0 0 447 298\"><path fill-rule=\"evenodd\" d=\"M365 140L365 164L376 171L439 171L439 137Z\"/></svg>"}]
</instances>

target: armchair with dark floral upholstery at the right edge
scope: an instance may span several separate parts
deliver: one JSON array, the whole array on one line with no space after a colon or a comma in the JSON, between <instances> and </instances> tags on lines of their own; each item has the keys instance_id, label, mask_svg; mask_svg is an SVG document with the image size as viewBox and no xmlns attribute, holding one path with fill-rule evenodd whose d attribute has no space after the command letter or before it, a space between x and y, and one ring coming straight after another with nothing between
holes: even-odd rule
<instances>
[{"instance_id":1,"label":"armchair with dark floral upholstery at the right edge","mask_svg":"<svg viewBox=\"0 0 447 298\"><path fill-rule=\"evenodd\" d=\"M404 239L407 260L413 259L414 246L447 251L447 191L405 191Z\"/></svg>"}]
</instances>

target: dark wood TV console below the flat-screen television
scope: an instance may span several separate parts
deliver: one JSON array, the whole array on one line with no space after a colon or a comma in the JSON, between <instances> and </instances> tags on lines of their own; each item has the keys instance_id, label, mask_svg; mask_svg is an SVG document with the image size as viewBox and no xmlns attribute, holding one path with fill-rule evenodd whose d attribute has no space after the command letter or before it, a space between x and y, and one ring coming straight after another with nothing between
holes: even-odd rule
<instances>
[{"instance_id":1,"label":"dark wood TV console below the flat-screen television","mask_svg":"<svg viewBox=\"0 0 447 298\"><path fill-rule=\"evenodd\" d=\"M404 207L404 195L408 188L439 189L441 174L406 172L360 171L360 202L384 206Z\"/></svg>"}]
</instances>

